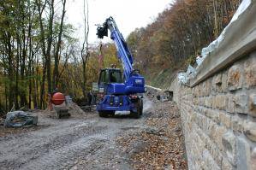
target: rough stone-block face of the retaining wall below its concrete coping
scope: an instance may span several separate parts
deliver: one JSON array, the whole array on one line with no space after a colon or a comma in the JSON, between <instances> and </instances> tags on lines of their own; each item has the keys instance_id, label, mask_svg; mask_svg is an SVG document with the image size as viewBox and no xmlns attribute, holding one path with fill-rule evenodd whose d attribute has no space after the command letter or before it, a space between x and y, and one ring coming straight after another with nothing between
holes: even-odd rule
<instances>
[{"instance_id":1,"label":"rough stone-block face of the retaining wall below its concrete coping","mask_svg":"<svg viewBox=\"0 0 256 170\"><path fill-rule=\"evenodd\" d=\"M170 86L189 169L256 169L256 51L198 85Z\"/></svg>"}]
</instances>

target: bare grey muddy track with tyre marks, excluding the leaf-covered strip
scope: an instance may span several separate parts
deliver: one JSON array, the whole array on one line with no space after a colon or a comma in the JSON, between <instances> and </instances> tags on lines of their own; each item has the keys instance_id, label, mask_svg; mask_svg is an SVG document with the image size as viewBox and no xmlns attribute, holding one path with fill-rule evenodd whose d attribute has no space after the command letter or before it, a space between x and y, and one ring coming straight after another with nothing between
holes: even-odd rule
<instances>
[{"instance_id":1,"label":"bare grey muddy track with tyre marks, excluding the leaf-covered strip","mask_svg":"<svg viewBox=\"0 0 256 170\"><path fill-rule=\"evenodd\" d=\"M116 138L148 128L154 103L140 119L127 115L54 120L39 116L43 128L0 138L0 169L133 169Z\"/></svg>"}]
</instances>

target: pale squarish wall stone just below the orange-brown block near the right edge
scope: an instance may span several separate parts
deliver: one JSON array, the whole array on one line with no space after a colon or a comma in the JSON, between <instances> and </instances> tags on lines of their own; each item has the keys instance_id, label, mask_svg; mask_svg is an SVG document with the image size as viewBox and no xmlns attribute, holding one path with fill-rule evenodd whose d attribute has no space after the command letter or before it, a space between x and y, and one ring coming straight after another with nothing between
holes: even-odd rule
<instances>
[{"instance_id":1,"label":"pale squarish wall stone just below the orange-brown block near the right edge","mask_svg":"<svg viewBox=\"0 0 256 170\"><path fill-rule=\"evenodd\" d=\"M248 96L246 93L237 94L233 97L235 103L235 112L238 114L247 114Z\"/></svg>"}]
</instances>

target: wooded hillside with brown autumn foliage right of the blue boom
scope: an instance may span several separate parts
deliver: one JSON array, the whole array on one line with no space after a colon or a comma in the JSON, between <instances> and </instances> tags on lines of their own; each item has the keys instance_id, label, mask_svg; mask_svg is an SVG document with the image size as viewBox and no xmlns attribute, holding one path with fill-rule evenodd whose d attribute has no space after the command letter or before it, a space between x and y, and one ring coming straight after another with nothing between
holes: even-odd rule
<instances>
[{"instance_id":1,"label":"wooded hillside with brown autumn foliage right of the blue boom","mask_svg":"<svg viewBox=\"0 0 256 170\"><path fill-rule=\"evenodd\" d=\"M140 69L158 75L164 69L181 70L229 24L241 1L176 0L152 24L128 36ZM148 76L148 81L155 76Z\"/></svg>"}]
</instances>

